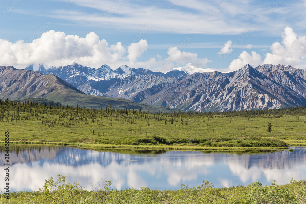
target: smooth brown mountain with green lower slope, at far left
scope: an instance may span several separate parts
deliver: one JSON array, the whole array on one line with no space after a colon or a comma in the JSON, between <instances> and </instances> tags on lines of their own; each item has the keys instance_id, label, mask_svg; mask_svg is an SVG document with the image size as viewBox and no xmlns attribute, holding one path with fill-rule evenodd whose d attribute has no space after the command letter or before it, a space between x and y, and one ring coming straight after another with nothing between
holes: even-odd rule
<instances>
[{"instance_id":1,"label":"smooth brown mountain with green lower slope, at far left","mask_svg":"<svg viewBox=\"0 0 306 204\"><path fill-rule=\"evenodd\" d=\"M121 98L87 95L53 74L43 75L37 71L0 66L0 99L6 98L10 100L43 98L50 103L95 108L110 107L112 104L112 107L121 109L178 110L149 106Z\"/></svg>"}]
</instances>

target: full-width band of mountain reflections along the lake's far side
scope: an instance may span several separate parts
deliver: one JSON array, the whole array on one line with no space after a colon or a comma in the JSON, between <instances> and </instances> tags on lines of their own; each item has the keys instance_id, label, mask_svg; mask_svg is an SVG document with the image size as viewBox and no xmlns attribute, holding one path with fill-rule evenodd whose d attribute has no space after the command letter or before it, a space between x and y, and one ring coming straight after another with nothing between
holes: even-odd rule
<instances>
[{"instance_id":1,"label":"full-width band of mountain reflections along the lake's far side","mask_svg":"<svg viewBox=\"0 0 306 204\"><path fill-rule=\"evenodd\" d=\"M4 165L4 146L0 146L0 165ZM163 153L163 152L159 152ZM197 151L169 151L163 154L122 154L117 152L99 152L93 150L77 149L72 147L48 147L32 145L11 145L9 161L12 164L38 162L40 166L45 163L67 166L81 166L99 163L108 166L115 162L127 166L130 162L139 165L146 162L170 161L174 165L203 163L228 163L240 168L250 169L257 166L260 169L291 169L297 164L306 163L306 148L295 147L293 152L288 150L264 154L236 154L236 153L203 153Z\"/></svg>"}]
</instances>

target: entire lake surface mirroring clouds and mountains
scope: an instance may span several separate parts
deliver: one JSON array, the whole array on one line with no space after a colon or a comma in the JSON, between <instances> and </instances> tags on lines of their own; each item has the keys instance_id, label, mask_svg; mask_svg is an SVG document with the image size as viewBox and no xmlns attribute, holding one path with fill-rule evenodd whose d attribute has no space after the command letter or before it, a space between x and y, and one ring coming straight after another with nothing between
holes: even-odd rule
<instances>
[{"instance_id":1,"label":"entire lake surface mirroring clouds and mountains","mask_svg":"<svg viewBox=\"0 0 306 204\"><path fill-rule=\"evenodd\" d=\"M26 147L26 146L25 146ZM38 190L45 179L67 175L91 190L91 182L111 180L114 189L149 187L179 189L180 184L197 186L204 179L214 187L248 184L259 180L286 184L306 179L306 147L265 154L169 151L162 154L122 154L72 147L31 147L10 152L10 188ZM3 146L2 146L3 149ZM1 150L2 150L1 149ZM0 189L4 187L4 153L0 153ZM3 191L3 190L0 190Z\"/></svg>"}]
</instances>

